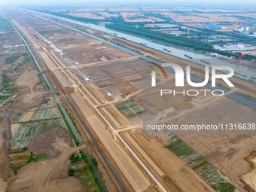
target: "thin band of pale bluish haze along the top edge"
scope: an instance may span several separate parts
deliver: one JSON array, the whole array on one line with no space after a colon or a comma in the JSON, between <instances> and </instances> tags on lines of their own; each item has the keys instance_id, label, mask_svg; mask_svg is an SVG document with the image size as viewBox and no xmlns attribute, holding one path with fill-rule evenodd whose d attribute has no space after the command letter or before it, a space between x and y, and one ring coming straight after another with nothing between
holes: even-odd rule
<instances>
[{"instance_id":1,"label":"thin band of pale bluish haze along the top edge","mask_svg":"<svg viewBox=\"0 0 256 192\"><path fill-rule=\"evenodd\" d=\"M117 6L117 5L256 5L256 1L253 0L227 0L227 1L222 1L222 0L214 0L209 2L208 0L180 0L180 1L175 1L175 2L166 2L165 0L160 0L160 1L152 1L152 0L147 0L147 1L136 1L136 0L96 0L94 2L90 1L82 1L82 0L75 0L70 2L69 0L45 0L44 2L32 2L31 0L10 0L10 1L3 1L0 0L0 6L1 5L91 5L91 6L103 6L103 5L112 5L112 6Z\"/></svg>"}]
</instances>

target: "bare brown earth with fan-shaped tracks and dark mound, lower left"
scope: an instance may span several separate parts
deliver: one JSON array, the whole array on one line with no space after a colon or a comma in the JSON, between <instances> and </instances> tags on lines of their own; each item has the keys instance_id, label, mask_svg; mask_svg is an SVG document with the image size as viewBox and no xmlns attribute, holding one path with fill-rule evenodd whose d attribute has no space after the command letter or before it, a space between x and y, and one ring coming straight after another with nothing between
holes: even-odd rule
<instances>
[{"instance_id":1,"label":"bare brown earth with fan-shaped tracks and dark mound, lower left","mask_svg":"<svg viewBox=\"0 0 256 192\"><path fill-rule=\"evenodd\" d=\"M67 162L70 155L85 146L71 148L70 144L69 133L62 128L54 128L36 137L29 148L35 153L47 154L49 158L19 169L8 182L7 191L84 191L83 181L67 177Z\"/></svg>"}]
</instances>

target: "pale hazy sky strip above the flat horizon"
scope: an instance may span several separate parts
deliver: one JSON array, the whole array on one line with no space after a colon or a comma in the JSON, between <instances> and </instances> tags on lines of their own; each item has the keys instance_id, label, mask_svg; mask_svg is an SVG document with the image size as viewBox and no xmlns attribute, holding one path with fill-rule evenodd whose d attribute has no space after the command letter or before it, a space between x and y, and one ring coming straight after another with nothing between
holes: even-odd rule
<instances>
[{"instance_id":1,"label":"pale hazy sky strip above the flat horizon","mask_svg":"<svg viewBox=\"0 0 256 192\"><path fill-rule=\"evenodd\" d=\"M212 5L241 5L241 4L251 4L256 5L256 0L0 0L0 5L74 5L74 4L87 4L87 5L117 5L118 4L126 4L126 5L134 5L134 4L181 4L181 3L189 3L189 4L212 4Z\"/></svg>"}]
</instances>

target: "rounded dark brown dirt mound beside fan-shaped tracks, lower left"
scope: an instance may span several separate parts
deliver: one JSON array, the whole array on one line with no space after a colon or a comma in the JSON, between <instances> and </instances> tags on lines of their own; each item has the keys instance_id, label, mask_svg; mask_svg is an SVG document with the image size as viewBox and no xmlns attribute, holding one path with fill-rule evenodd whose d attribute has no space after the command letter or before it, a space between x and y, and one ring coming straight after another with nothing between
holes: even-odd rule
<instances>
[{"instance_id":1,"label":"rounded dark brown dirt mound beside fan-shaped tracks, lower left","mask_svg":"<svg viewBox=\"0 0 256 192\"><path fill-rule=\"evenodd\" d=\"M56 150L53 145L56 142L56 138L62 139L67 145L72 145L72 137L69 132L61 127L56 127L35 137L29 143L28 148L35 154L46 154L48 158L58 157L60 151Z\"/></svg>"}]
</instances>

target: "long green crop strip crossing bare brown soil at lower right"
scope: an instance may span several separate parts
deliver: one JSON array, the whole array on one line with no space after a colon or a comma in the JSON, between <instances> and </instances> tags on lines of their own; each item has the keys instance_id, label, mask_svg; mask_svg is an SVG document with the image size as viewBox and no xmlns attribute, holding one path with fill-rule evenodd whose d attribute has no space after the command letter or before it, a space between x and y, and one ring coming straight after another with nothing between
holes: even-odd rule
<instances>
[{"instance_id":1,"label":"long green crop strip crossing bare brown soil at lower right","mask_svg":"<svg viewBox=\"0 0 256 192\"><path fill-rule=\"evenodd\" d=\"M170 144L166 145L174 154L183 160L187 160L187 165L194 169L214 190L219 192L233 192L236 188L224 179L224 175L206 161L200 154L187 146L177 136L172 136Z\"/></svg>"}]
</instances>

